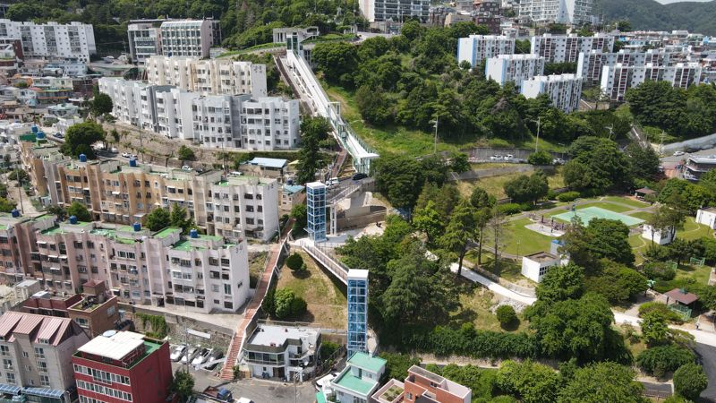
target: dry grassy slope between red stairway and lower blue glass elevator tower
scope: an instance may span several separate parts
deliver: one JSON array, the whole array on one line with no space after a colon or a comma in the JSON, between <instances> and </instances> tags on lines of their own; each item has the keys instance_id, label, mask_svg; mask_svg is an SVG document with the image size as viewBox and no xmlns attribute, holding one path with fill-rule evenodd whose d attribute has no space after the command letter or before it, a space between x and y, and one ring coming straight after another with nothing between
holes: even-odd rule
<instances>
[{"instance_id":1,"label":"dry grassy slope between red stairway and lower blue glass elevator tower","mask_svg":"<svg viewBox=\"0 0 716 403\"><path fill-rule=\"evenodd\" d=\"M299 252L307 269L295 272L284 265L277 288L291 288L296 296L306 300L307 310L298 322L320 324L329 329L345 329L345 286L320 269L306 253Z\"/></svg>"}]
</instances>

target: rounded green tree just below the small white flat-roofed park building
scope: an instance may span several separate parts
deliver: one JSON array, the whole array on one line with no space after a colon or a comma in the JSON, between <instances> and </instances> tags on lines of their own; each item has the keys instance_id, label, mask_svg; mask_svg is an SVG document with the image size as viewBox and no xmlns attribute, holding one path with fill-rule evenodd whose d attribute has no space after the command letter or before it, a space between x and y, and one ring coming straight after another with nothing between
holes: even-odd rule
<instances>
[{"instance_id":1,"label":"rounded green tree just below the small white flat-roofed park building","mask_svg":"<svg viewBox=\"0 0 716 403\"><path fill-rule=\"evenodd\" d=\"M537 286L537 298L553 303L579 298L583 291L584 269L570 262L547 270Z\"/></svg>"}]
</instances>

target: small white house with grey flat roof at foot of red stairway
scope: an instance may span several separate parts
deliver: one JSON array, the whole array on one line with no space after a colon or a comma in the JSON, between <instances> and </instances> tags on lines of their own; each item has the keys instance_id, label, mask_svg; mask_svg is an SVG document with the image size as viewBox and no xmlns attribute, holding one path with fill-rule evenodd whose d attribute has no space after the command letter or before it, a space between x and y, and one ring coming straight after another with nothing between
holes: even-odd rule
<instances>
[{"instance_id":1,"label":"small white house with grey flat roof at foot of red stairway","mask_svg":"<svg viewBox=\"0 0 716 403\"><path fill-rule=\"evenodd\" d=\"M260 324L243 344L241 361L254 378L303 382L319 351L319 329Z\"/></svg>"}]
</instances>

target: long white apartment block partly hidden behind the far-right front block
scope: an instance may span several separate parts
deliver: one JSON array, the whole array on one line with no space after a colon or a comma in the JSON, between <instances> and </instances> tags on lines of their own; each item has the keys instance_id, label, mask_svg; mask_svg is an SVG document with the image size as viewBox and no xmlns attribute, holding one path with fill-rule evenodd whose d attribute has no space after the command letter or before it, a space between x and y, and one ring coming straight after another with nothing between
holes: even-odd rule
<instances>
[{"instance_id":1,"label":"long white apartment block partly hidden behind the far-right front block","mask_svg":"<svg viewBox=\"0 0 716 403\"><path fill-rule=\"evenodd\" d=\"M661 49L649 49L646 52L626 52L620 50L617 53L603 53L598 50L580 53L576 64L576 75L584 80L584 87L599 85L601 72L605 66L615 64L644 66L669 65L672 55Z\"/></svg>"}]
</instances>

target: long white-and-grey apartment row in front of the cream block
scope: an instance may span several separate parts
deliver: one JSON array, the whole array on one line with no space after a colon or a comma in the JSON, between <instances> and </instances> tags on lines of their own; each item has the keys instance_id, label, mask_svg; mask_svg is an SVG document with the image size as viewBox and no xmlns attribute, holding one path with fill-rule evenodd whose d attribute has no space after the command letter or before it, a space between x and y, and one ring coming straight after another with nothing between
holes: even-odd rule
<instances>
[{"instance_id":1,"label":"long white-and-grey apartment row in front of the cream block","mask_svg":"<svg viewBox=\"0 0 716 403\"><path fill-rule=\"evenodd\" d=\"M112 98L118 120L169 138L243 150L288 150L300 144L296 99L201 96L173 86L118 78L99 79L98 85Z\"/></svg>"}]
</instances>

